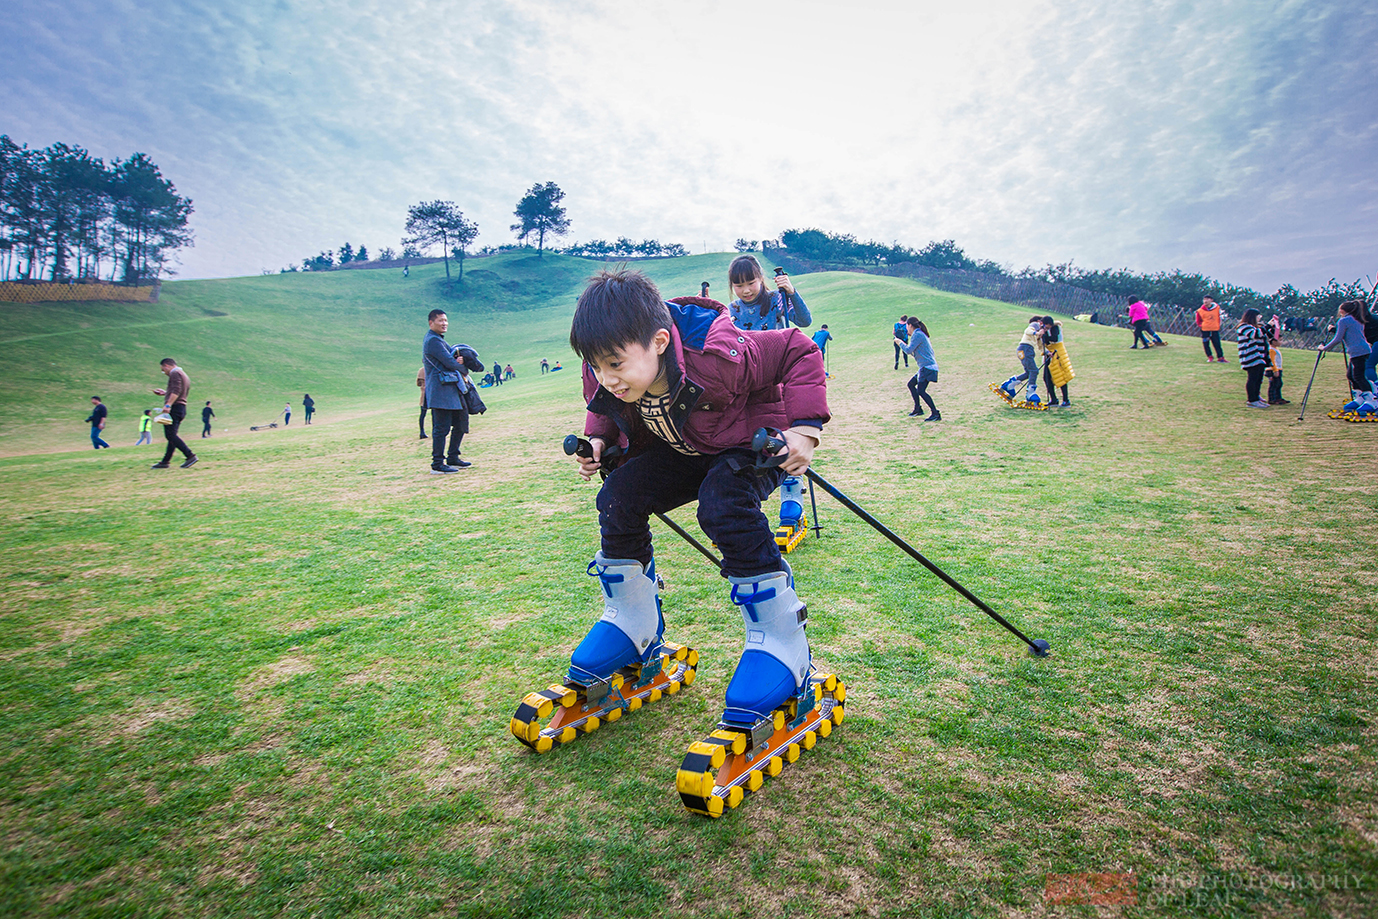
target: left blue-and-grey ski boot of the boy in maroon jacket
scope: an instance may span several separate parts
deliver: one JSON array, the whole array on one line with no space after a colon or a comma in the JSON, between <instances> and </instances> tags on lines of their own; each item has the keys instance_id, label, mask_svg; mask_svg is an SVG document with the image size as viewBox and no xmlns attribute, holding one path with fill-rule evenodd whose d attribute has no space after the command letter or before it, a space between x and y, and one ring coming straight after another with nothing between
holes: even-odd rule
<instances>
[{"instance_id":1,"label":"left blue-and-grey ski boot of the boy in maroon jacket","mask_svg":"<svg viewBox=\"0 0 1378 919\"><path fill-rule=\"evenodd\" d=\"M656 562L594 555L588 575L602 581L604 615L569 659L569 681L606 681L628 664L641 664L660 648L666 620L660 613Z\"/></svg>"}]
</instances>

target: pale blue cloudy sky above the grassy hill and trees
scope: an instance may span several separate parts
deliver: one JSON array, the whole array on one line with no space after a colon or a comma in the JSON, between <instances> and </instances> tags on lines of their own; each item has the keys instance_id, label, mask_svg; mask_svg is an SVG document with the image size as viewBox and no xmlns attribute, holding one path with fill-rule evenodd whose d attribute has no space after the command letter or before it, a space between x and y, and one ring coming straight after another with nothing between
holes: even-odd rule
<instances>
[{"instance_id":1,"label":"pale blue cloudy sky above the grassy hill and trees","mask_svg":"<svg viewBox=\"0 0 1378 919\"><path fill-rule=\"evenodd\" d=\"M398 247L693 252L816 226L1273 291L1378 269L1371 0L7 0L0 132L147 153L181 277Z\"/></svg>"}]
</instances>

